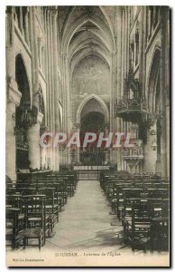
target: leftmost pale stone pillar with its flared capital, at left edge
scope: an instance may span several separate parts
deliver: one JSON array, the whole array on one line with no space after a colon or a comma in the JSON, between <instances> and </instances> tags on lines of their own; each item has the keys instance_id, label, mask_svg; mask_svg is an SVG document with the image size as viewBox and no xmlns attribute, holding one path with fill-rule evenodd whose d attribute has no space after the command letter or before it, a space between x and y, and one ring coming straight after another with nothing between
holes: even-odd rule
<instances>
[{"instance_id":1,"label":"leftmost pale stone pillar with its flared capital, at left edge","mask_svg":"<svg viewBox=\"0 0 175 272\"><path fill-rule=\"evenodd\" d=\"M16 180L16 147L15 147L15 107L20 105L22 93L18 91L17 83L13 78L7 83L6 105L6 175L11 180Z\"/></svg>"}]
</instances>

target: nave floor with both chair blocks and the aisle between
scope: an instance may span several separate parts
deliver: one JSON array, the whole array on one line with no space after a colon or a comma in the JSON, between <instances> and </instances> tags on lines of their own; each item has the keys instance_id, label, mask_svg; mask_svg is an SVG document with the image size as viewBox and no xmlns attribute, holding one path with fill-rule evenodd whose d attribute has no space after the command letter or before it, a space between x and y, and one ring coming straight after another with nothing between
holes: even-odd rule
<instances>
[{"instance_id":1,"label":"nave floor with both chair blocks and the aisle between","mask_svg":"<svg viewBox=\"0 0 175 272\"><path fill-rule=\"evenodd\" d=\"M114 170L102 170L99 180L78 176L77 171L38 172L7 183L6 240L13 249L168 250L169 180L159 173Z\"/></svg>"}]
</instances>

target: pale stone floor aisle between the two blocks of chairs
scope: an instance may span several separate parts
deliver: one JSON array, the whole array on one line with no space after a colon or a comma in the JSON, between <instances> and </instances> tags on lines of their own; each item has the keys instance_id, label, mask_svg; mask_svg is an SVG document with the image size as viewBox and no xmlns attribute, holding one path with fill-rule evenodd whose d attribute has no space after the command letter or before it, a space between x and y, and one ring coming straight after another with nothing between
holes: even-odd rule
<instances>
[{"instance_id":1,"label":"pale stone floor aisle between the two blocks of chairs","mask_svg":"<svg viewBox=\"0 0 175 272\"><path fill-rule=\"evenodd\" d=\"M60 212L56 235L48 238L43 249L105 250L123 248L122 226L112 227L114 216L109 214L106 196L97 180L79 180L75 196L70 198L65 210Z\"/></svg>"}]
</instances>

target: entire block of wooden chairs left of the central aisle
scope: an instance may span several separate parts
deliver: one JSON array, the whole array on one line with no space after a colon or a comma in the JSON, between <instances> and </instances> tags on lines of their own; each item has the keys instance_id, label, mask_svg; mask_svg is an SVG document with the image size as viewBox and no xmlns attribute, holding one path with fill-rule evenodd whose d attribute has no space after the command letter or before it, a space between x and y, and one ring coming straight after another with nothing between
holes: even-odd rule
<instances>
[{"instance_id":1,"label":"entire block of wooden chairs left of the central aisle","mask_svg":"<svg viewBox=\"0 0 175 272\"><path fill-rule=\"evenodd\" d=\"M78 176L76 172L61 173L60 179L60 174L50 173L33 181L20 180L15 186L6 186L6 240L12 248L25 248L29 239L37 239L41 249L45 239L52 236L68 196L74 195Z\"/></svg>"}]
</instances>

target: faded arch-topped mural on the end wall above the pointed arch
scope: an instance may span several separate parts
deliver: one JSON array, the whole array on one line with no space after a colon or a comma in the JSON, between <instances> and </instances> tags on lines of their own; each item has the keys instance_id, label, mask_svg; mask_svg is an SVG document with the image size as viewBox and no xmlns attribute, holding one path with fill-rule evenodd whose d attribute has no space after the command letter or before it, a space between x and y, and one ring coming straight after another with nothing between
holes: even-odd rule
<instances>
[{"instance_id":1,"label":"faded arch-topped mural on the end wall above the pointed arch","mask_svg":"<svg viewBox=\"0 0 175 272\"><path fill-rule=\"evenodd\" d=\"M110 92L109 69L100 58L90 55L78 63L73 73L72 91L77 95Z\"/></svg>"}]
</instances>

